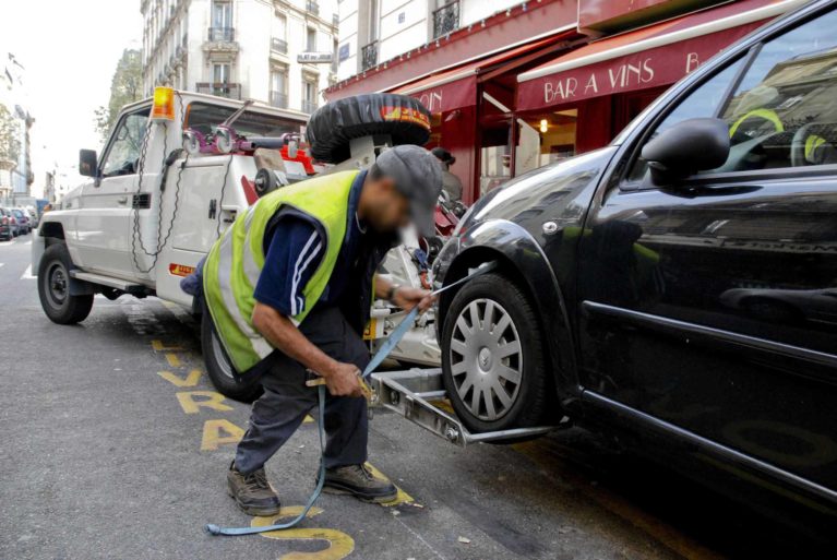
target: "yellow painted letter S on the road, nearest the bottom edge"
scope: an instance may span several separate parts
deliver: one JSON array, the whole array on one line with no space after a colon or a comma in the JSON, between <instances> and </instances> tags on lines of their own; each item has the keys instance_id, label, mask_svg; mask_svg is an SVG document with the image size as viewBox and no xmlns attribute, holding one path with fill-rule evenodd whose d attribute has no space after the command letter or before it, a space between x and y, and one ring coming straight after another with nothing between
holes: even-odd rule
<instances>
[{"instance_id":1,"label":"yellow painted letter S on the road, nearest the bottom edge","mask_svg":"<svg viewBox=\"0 0 837 560\"><path fill-rule=\"evenodd\" d=\"M253 517L253 521L250 522L250 526L266 527L268 525L275 525L282 520L290 521L302 513L303 509L304 508L301 505L283 508L278 515L272 517ZM320 508L311 508L306 517L313 517L320 515L322 512L323 510ZM355 539L337 529L294 527L284 531L261 533L261 535L276 540L325 540L328 543L328 548L323 550L318 550L315 552L289 552L279 557L280 560L340 560L355 550Z\"/></svg>"}]
</instances>

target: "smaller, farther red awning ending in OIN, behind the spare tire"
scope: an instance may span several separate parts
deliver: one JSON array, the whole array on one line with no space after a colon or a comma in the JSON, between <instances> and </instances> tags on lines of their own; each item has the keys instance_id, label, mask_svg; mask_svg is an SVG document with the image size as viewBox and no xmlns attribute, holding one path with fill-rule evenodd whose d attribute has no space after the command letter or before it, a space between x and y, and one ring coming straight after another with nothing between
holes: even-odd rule
<instances>
[{"instance_id":1,"label":"smaller, farther red awning ending in OIN, behind the spare tire","mask_svg":"<svg viewBox=\"0 0 837 560\"><path fill-rule=\"evenodd\" d=\"M409 95L419 99L430 112L445 112L477 104L477 76L486 70L514 60L529 52L535 52L557 43L562 38L550 36L498 55L467 64L462 64L442 72L433 73L391 90L391 93Z\"/></svg>"}]
</instances>

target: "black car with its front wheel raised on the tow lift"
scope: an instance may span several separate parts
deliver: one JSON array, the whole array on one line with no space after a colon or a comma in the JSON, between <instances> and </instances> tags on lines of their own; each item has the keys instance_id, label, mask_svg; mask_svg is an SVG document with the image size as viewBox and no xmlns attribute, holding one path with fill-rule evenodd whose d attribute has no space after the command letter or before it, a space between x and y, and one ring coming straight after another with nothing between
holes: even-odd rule
<instances>
[{"instance_id":1,"label":"black car with its front wheel raised on the tow lift","mask_svg":"<svg viewBox=\"0 0 837 560\"><path fill-rule=\"evenodd\" d=\"M474 431L564 415L757 510L837 527L837 10L813 2L605 148L481 199L434 264Z\"/></svg>"}]
</instances>

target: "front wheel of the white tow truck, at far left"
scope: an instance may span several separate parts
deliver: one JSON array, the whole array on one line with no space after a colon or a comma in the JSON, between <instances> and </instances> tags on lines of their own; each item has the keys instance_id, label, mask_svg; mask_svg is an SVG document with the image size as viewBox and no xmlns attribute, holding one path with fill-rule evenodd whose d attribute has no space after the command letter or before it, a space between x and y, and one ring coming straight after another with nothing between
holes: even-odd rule
<instances>
[{"instance_id":1,"label":"front wheel of the white tow truck, at far left","mask_svg":"<svg viewBox=\"0 0 837 560\"><path fill-rule=\"evenodd\" d=\"M87 319L93 309L93 294L70 295L73 261L64 243L47 247L38 265L38 297L50 321L75 324Z\"/></svg>"}]
</instances>

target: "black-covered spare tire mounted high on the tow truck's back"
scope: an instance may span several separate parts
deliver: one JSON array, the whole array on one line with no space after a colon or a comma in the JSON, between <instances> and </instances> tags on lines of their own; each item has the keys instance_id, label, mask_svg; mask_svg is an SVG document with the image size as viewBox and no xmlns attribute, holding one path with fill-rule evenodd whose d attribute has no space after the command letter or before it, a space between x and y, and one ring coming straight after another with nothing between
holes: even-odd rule
<instances>
[{"instance_id":1,"label":"black-covered spare tire mounted high on the tow truck's back","mask_svg":"<svg viewBox=\"0 0 837 560\"><path fill-rule=\"evenodd\" d=\"M430 140L430 111L414 97L368 94L320 107L308 121L311 157L326 164L349 158L352 139L388 134L393 145L425 145Z\"/></svg>"}]
</instances>

